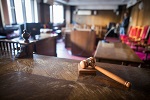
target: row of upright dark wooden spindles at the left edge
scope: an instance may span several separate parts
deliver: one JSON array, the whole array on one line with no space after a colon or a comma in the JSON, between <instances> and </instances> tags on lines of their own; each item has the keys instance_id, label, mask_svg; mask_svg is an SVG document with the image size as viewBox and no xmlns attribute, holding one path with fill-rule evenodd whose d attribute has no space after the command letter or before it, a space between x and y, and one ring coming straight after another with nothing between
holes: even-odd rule
<instances>
[{"instance_id":1,"label":"row of upright dark wooden spindles at the left edge","mask_svg":"<svg viewBox=\"0 0 150 100\"><path fill-rule=\"evenodd\" d=\"M0 55L15 57L20 50L19 42L11 40L0 40Z\"/></svg>"}]
</instances>

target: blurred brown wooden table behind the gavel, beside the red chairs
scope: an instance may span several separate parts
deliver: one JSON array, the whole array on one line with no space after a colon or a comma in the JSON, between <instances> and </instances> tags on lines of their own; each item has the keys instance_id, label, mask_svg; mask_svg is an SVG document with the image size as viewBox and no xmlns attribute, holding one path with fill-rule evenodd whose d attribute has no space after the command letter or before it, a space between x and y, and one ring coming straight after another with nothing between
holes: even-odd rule
<instances>
[{"instance_id":1,"label":"blurred brown wooden table behind the gavel, beside the red chairs","mask_svg":"<svg viewBox=\"0 0 150 100\"><path fill-rule=\"evenodd\" d=\"M137 64L143 61L124 43L105 43L99 41L94 57L97 61L116 64Z\"/></svg>"}]
</instances>

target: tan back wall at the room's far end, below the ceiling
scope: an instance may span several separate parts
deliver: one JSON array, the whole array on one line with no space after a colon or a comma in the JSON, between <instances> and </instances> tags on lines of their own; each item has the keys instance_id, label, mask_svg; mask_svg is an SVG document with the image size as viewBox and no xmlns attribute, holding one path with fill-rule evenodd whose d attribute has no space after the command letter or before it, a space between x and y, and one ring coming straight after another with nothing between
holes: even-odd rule
<instances>
[{"instance_id":1,"label":"tan back wall at the room's far end, below the ceiling","mask_svg":"<svg viewBox=\"0 0 150 100\"><path fill-rule=\"evenodd\" d=\"M120 22L120 15L113 10L101 10L97 15L74 15L74 20L80 24L106 26L109 22Z\"/></svg>"}]
</instances>

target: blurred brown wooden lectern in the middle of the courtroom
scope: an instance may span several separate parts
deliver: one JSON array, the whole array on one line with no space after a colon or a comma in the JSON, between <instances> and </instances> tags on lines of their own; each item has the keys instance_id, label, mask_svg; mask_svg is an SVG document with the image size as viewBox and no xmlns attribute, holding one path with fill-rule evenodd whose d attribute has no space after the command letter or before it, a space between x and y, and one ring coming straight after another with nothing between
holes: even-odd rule
<instances>
[{"instance_id":1,"label":"blurred brown wooden lectern in the middle of the courtroom","mask_svg":"<svg viewBox=\"0 0 150 100\"><path fill-rule=\"evenodd\" d=\"M71 52L76 56L93 56L96 33L90 29L76 29L71 32Z\"/></svg>"}]
</instances>

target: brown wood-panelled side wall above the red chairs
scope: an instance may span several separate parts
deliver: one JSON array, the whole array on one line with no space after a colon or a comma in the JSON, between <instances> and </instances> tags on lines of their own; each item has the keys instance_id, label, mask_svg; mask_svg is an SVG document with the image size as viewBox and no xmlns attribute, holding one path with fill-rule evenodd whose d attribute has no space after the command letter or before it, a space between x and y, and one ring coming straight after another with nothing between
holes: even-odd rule
<instances>
[{"instance_id":1,"label":"brown wood-panelled side wall above the red chairs","mask_svg":"<svg viewBox=\"0 0 150 100\"><path fill-rule=\"evenodd\" d=\"M143 8L139 9L139 3L132 7L130 26L150 25L150 0L142 0Z\"/></svg>"}]
</instances>

